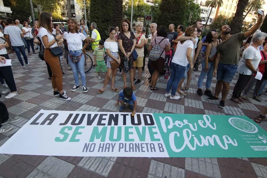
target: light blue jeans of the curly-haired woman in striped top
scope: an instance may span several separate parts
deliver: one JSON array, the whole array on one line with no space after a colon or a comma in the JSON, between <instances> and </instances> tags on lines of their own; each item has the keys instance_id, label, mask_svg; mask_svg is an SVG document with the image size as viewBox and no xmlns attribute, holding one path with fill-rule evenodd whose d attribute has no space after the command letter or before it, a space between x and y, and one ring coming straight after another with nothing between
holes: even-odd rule
<instances>
[{"instance_id":1,"label":"light blue jeans of the curly-haired woman in striped top","mask_svg":"<svg viewBox=\"0 0 267 178\"><path fill-rule=\"evenodd\" d=\"M198 88L202 87L202 82L204 80L204 78L207 76L207 80L206 80L206 88L210 88L211 82L212 82L212 73L213 73L213 66L214 66L214 62L209 62L209 71L205 72L204 69L206 67L206 62L202 61L202 70L201 70L201 74L198 77Z\"/></svg>"}]
</instances>

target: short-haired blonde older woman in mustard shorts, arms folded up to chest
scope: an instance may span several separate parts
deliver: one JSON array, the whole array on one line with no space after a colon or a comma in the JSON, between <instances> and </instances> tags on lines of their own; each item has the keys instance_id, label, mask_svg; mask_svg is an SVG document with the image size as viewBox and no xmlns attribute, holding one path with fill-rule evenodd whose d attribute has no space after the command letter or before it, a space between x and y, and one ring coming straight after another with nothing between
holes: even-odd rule
<instances>
[{"instance_id":1,"label":"short-haired blonde older woman in mustard shorts, arms folded up to chest","mask_svg":"<svg viewBox=\"0 0 267 178\"><path fill-rule=\"evenodd\" d=\"M141 83L141 77L142 77L142 67L143 67L143 60L144 60L144 45L146 42L146 37L144 34L142 34L143 31L143 23L142 22L136 22L135 24L136 28L136 34L135 34L135 50L138 55L136 61L134 61L134 81L136 80L136 67L138 69L138 78L137 81L134 83L135 85L138 85Z\"/></svg>"}]
</instances>

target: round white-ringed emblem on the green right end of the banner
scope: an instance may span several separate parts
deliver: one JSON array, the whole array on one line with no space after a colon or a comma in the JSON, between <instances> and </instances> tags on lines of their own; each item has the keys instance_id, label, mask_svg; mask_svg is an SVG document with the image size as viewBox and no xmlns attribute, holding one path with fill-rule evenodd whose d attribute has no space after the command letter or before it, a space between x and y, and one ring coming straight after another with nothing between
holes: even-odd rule
<instances>
[{"instance_id":1,"label":"round white-ringed emblem on the green right end of the banner","mask_svg":"<svg viewBox=\"0 0 267 178\"><path fill-rule=\"evenodd\" d=\"M247 133L258 132L258 128L247 120L244 120L238 117L231 117L229 118L228 121L231 125L233 125L233 127L237 128L240 131L247 132Z\"/></svg>"}]
</instances>

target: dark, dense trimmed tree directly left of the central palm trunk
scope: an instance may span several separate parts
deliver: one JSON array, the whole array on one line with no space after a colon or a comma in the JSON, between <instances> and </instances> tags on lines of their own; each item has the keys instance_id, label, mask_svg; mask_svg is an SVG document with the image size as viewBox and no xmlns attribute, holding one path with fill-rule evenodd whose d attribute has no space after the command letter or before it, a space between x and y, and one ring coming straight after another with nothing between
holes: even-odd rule
<instances>
[{"instance_id":1,"label":"dark, dense trimmed tree directly left of the central palm trunk","mask_svg":"<svg viewBox=\"0 0 267 178\"><path fill-rule=\"evenodd\" d=\"M90 23L96 23L101 39L108 37L105 30L111 25L112 9L113 1L110 0L91 0L90 2ZM88 27L90 28L90 25Z\"/></svg>"}]
</instances>

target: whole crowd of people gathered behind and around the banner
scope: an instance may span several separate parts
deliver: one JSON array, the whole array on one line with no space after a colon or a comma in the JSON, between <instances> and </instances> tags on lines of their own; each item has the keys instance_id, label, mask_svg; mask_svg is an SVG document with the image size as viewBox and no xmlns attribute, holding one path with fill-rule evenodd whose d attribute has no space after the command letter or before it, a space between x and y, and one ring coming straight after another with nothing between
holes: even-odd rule
<instances>
[{"instance_id":1,"label":"whole crowd of people gathered behind and around the banner","mask_svg":"<svg viewBox=\"0 0 267 178\"><path fill-rule=\"evenodd\" d=\"M97 31L96 23L91 23L92 33L91 37L88 37L89 30L83 19L80 20L80 23L73 18L68 19L67 29L64 23L53 26L51 14L42 12L39 21L34 23L33 28L29 26L28 22L24 22L22 25L18 20L15 20L14 24L12 18L1 21L3 29L0 29L0 37L7 42L0 45L0 61L5 63L6 59L9 59L6 49L10 48L11 52L12 50L15 51L21 67L26 68L30 64L25 48L28 50L28 55L31 55L30 47L33 53L37 53L35 50L38 49L39 57L47 64L53 95L68 101L71 98L63 90L60 45L63 43L64 48L69 51L67 58L75 82L71 91L80 88L80 73L81 89L85 93L88 92L88 89L84 72L86 62L83 53L90 46L94 55L94 66L98 79L101 80L100 70L105 73L103 88L99 89L97 93L102 94L106 90L110 78L110 90L112 92L121 91L121 89L115 88L114 84L116 74L122 74L123 90L119 93L115 105L120 103L119 111L122 112L125 109L125 103L128 103L132 114L135 114L137 102L133 91L136 90L135 85L142 83L142 71L149 51L147 68L151 75L148 78L150 90L158 90L156 87L158 76L166 72L167 67L171 71L171 75L164 96L171 100L178 100L181 95L186 96L185 92L190 88L192 73L198 71L198 66L201 64L202 70L198 78L197 94L203 95L202 83L207 77L204 92L204 95L208 96L206 99L218 101L219 95L222 93L219 107L224 108L229 86L236 72L239 73L239 78L233 89L231 100L237 104L242 104L255 85L253 98L256 101L261 101L260 95L267 84L266 34L258 30L263 19L264 16L258 15L258 22L250 30L233 35L230 34L230 26L225 24L220 29L209 31L202 40L200 39L203 28L202 20L193 22L185 29L185 32L183 32L183 25L178 25L177 32L175 32L174 24L169 25L168 31L164 26L158 27L156 23L151 23L151 40L148 43L147 31L142 22L136 23L136 31L133 32L129 20L124 19L120 28L118 26L109 28L109 38L103 41ZM38 48L34 49L34 43L38 44ZM147 46L149 47L147 48ZM23 55L25 64L20 53ZM169 66L166 66L167 56L170 60ZM117 69L120 70L118 73ZM131 83L129 87L126 81L128 73ZM259 73L263 75L260 80L256 77L260 76ZM210 90L213 77L217 79L214 94ZM182 87L185 79L187 79L187 83ZM11 66L0 67L0 81L7 88L2 91L2 94L8 93L5 98L18 95ZM3 120L8 120L8 114L1 114L1 118L3 123ZM264 118L265 115L261 113L255 122L260 123ZM7 131L10 128L5 129Z\"/></svg>"}]
</instances>

